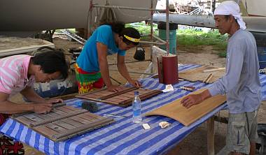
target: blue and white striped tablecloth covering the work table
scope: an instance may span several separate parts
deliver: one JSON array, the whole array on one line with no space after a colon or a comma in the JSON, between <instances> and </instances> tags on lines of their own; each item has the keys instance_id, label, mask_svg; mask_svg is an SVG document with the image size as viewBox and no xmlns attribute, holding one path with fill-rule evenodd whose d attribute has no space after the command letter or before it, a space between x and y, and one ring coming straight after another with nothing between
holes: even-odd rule
<instances>
[{"instance_id":1,"label":"blue and white striped tablecloth covering the work table","mask_svg":"<svg viewBox=\"0 0 266 155\"><path fill-rule=\"evenodd\" d=\"M179 66L179 71L198 67L198 65ZM262 81L262 95L266 98L266 75L260 75ZM142 79L141 84L148 89L165 89L165 84L159 84L158 79L151 77ZM174 91L159 94L153 98L149 98L142 102L141 111L143 113L158 108L166 103L170 103L177 98L189 94L190 91L178 89L183 85L193 85L197 89L207 86L202 82L181 81L174 84ZM74 102L80 101L78 98L66 101L67 105L74 105ZM78 135L63 142L53 142L43 135L32 131L30 128L8 119L5 124L0 127L0 132L10 137L25 142L27 145L34 147L45 154L160 154L167 149L178 144L183 138L191 133L200 124L213 116L219 110L226 108L223 104L216 108L213 112L205 115L190 126L162 116L144 117L144 123L151 126L150 130L144 130L141 124L132 123L132 107L120 108L113 105L99 103L99 112L97 115L112 114L124 115L128 118L116 117L116 122L99 128L83 135ZM169 128L160 128L160 121L168 121L171 123Z\"/></svg>"}]
</instances>

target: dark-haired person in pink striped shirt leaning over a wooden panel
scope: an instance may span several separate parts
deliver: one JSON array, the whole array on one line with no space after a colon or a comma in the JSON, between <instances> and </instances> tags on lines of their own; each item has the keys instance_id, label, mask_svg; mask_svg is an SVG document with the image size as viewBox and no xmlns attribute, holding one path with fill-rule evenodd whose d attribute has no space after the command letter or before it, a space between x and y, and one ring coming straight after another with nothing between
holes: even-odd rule
<instances>
[{"instance_id":1,"label":"dark-haired person in pink striped shirt leaning over a wooden panel","mask_svg":"<svg viewBox=\"0 0 266 155\"><path fill-rule=\"evenodd\" d=\"M66 79L68 69L64 53L59 51L42 52L34 57L20 54L0 59L0 125L11 114L47 113L52 110L53 103L62 103L61 98L45 100L38 96L31 86L34 82ZM10 96L17 93L25 96L31 103L9 101ZM8 150L10 149L8 144L13 144L12 150ZM0 154L5 154L5 152L24 154L22 143L13 142L6 136L0 136L0 145ZM5 147L6 145L9 147Z\"/></svg>"}]
</instances>

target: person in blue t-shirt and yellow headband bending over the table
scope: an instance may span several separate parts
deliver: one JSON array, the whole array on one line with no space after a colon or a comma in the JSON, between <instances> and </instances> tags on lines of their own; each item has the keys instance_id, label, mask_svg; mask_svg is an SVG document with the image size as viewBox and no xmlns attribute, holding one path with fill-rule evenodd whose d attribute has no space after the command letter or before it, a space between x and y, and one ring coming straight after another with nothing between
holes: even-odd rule
<instances>
[{"instance_id":1,"label":"person in blue t-shirt and yellow headband bending over the table","mask_svg":"<svg viewBox=\"0 0 266 155\"><path fill-rule=\"evenodd\" d=\"M137 80L133 80L125 66L125 50L139 44L140 34L132 27L125 28L125 24L104 24L98 27L89 40L75 64L78 91L80 94L102 88L106 84L109 91L119 91L120 87L111 82L107 55L118 54L118 71L130 84L139 87Z\"/></svg>"}]
</instances>

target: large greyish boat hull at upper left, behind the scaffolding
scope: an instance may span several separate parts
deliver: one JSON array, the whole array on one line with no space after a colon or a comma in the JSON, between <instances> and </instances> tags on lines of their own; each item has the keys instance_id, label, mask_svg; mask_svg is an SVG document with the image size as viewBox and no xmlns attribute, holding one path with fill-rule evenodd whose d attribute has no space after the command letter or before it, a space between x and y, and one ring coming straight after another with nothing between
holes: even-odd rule
<instances>
[{"instance_id":1,"label":"large greyish boat hull at upper left, behind the scaffolding","mask_svg":"<svg viewBox=\"0 0 266 155\"><path fill-rule=\"evenodd\" d=\"M94 0L94 4L105 5L106 0ZM155 8L157 0L153 0ZM111 6L150 8L148 0L110 0ZM40 31L47 29L87 27L90 0L1 0L0 31ZM99 8L98 8L99 11ZM147 10L115 9L120 22L140 22L147 20L151 13ZM93 8L92 22L97 15Z\"/></svg>"}]
</instances>

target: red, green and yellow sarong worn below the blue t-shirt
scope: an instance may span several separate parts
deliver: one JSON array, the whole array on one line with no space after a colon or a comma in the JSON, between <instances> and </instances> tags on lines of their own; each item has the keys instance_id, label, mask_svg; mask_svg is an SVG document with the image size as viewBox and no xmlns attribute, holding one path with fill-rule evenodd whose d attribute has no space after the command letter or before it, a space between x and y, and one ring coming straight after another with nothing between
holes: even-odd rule
<instances>
[{"instance_id":1,"label":"red, green and yellow sarong worn below the blue t-shirt","mask_svg":"<svg viewBox=\"0 0 266 155\"><path fill-rule=\"evenodd\" d=\"M104 80L100 72L83 71L78 64L75 64L76 80L78 82L78 93L83 94L104 87Z\"/></svg>"}]
</instances>

